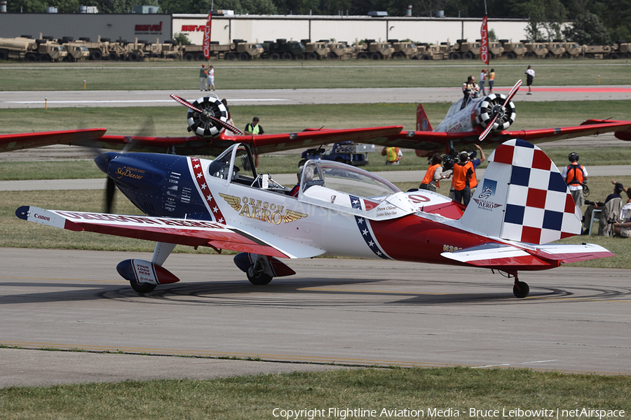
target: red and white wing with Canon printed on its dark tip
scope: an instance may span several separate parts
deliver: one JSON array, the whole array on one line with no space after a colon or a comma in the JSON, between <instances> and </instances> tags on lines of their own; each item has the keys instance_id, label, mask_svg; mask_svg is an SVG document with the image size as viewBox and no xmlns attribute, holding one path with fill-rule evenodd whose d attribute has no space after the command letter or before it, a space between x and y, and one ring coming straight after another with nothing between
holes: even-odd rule
<instances>
[{"instance_id":1,"label":"red and white wing with Canon printed on its dark tip","mask_svg":"<svg viewBox=\"0 0 631 420\"><path fill-rule=\"evenodd\" d=\"M15 216L25 221L67 230L85 230L194 247L211 246L280 258L309 258L325 252L268 232L255 229L245 232L212 221L46 210L32 206L20 207L15 211Z\"/></svg>"}]
</instances>

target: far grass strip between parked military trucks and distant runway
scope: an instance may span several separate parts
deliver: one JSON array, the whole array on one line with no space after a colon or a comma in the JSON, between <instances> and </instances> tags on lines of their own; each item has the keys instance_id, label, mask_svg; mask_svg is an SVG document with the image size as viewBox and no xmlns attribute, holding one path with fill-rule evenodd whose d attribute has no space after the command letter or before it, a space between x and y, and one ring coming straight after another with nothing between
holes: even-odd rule
<instances>
[{"instance_id":1,"label":"far grass strip between parked military trucks and distant runway","mask_svg":"<svg viewBox=\"0 0 631 420\"><path fill-rule=\"evenodd\" d=\"M536 62L534 62L536 61ZM314 87L453 87L468 74L477 75L477 61L326 61L212 62L217 89L308 89ZM496 86L512 86L526 67L536 70L536 85L627 85L631 60L497 60ZM0 90L182 90L196 89L198 62L84 62L0 64ZM11 71L16 69L19 71ZM283 77L278 73L282 71Z\"/></svg>"}]
</instances>

